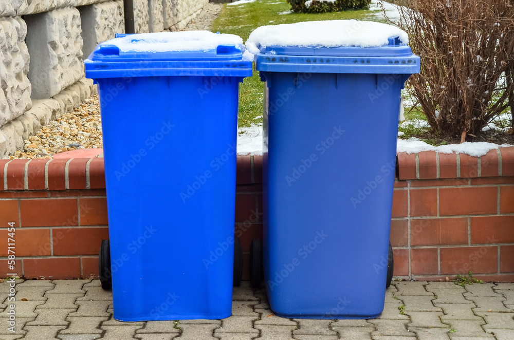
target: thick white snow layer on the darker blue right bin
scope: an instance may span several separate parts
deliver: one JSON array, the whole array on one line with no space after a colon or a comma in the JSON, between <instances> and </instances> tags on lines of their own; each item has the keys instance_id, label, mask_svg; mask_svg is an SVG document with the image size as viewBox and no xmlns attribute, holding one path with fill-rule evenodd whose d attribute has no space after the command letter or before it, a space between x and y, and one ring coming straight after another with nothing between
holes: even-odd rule
<instances>
[{"instance_id":1,"label":"thick white snow layer on the darker blue right bin","mask_svg":"<svg viewBox=\"0 0 514 340\"><path fill-rule=\"evenodd\" d=\"M256 28L246 48L256 54L268 46L380 47L390 44L390 37L398 37L402 45L409 43L407 33L391 25L357 20L309 21Z\"/></svg>"}]
</instances>

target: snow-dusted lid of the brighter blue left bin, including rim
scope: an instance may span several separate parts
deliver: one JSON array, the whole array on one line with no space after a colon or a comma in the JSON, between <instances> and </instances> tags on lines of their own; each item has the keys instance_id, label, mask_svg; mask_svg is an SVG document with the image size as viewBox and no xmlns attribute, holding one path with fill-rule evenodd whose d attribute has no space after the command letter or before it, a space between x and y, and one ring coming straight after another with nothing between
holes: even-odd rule
<instances>
[{"instance_id":1,"label":"snow-dusted lid of the brighter blue left bin, including rim","mask_svg":"<svg viewBox=\"0 0 514 340\"><path fill-rule=\"evenodd\" d=\"M253 60L249 54L241 37L234 34L116 34L115 39L99 44L84 64L86 77L93 79L158 75L247 77Z\"/></svg>"}]
</instances>

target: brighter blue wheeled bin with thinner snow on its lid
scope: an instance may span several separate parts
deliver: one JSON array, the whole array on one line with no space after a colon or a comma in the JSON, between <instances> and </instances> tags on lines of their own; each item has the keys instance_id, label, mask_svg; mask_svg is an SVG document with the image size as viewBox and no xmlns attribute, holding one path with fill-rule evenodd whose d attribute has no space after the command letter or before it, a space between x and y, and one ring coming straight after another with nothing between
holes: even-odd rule
<instances>
[{"instance_id":1,"label":"brighter blue wheeled bin with thinner snow on its lid","mask_svg":"<svg viewBox=\"0 0 514 340\"><path fill-rule=\"evenodd\" d=\"M241 44L120 35L85 61L101 105L117 320L231 315L238 84L252 74Z\"/></svg>"}]
</instances>

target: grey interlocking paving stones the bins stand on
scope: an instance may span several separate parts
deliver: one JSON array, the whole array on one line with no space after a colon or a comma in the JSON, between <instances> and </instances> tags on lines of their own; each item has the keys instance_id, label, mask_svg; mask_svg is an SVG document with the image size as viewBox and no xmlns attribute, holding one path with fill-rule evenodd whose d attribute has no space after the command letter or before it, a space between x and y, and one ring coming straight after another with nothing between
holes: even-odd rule
<instances>
[{"instance_id":1,"label":"grey interlocking paving stones the bins stand on","mask_svg":"<svg viewBox=\"0 0 514 340\"><path fill-rule=\"evenodd\" d=\"M99 280L17 280L11 330L8 285L0 283L0 340L514 340L514 284L393 282L375 319L315 320L274 315L266 291L244 281L229 318L124 323Z\"/></svg>"}]
</instances>

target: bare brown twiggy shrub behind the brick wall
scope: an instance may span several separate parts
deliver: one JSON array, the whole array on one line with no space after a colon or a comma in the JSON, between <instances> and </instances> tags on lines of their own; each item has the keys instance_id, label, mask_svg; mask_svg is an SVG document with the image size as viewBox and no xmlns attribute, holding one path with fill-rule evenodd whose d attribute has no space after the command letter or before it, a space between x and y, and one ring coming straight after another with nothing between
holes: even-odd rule
<instances>
[{"instance_id":1,"label":"bare brown twiggy shrub behind the brick wall","mask_svg":"<svg viewBox=\"0 0 514 340\"><path fill-rule=\"evenodd\" d=\"M409 80L434 133L479 135L514 106L514 0L402 0L399 22L421 57ZM510 71L509 71L510 70Z\"/></svg>"}]
</instances>

